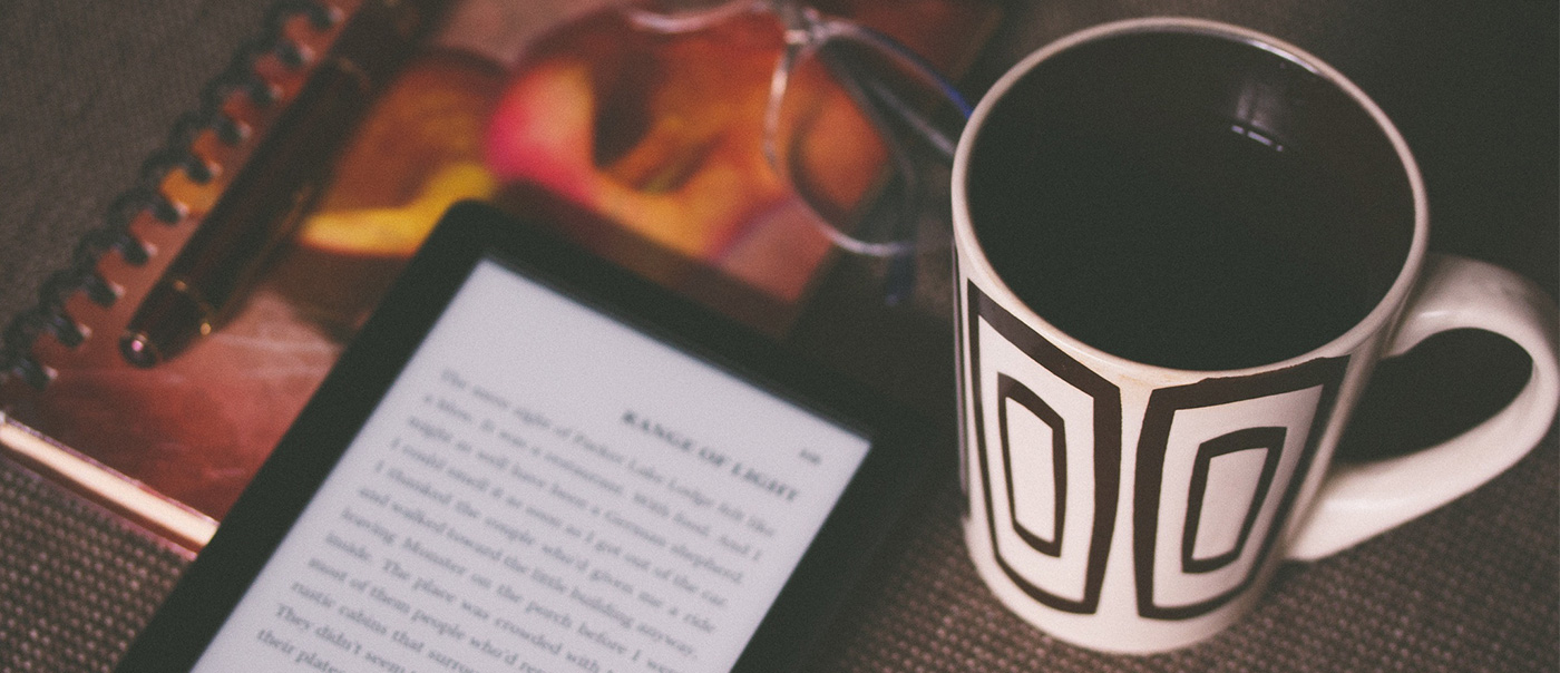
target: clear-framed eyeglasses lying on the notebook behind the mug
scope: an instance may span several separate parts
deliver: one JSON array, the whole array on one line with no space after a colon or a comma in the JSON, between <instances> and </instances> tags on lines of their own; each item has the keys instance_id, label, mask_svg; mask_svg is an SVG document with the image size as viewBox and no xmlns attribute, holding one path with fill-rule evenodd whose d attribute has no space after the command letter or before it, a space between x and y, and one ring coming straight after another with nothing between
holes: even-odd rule
<instances>
[{"instance_id":1,"label":"clear-framed eyeglasses lying on the notebook behind the mug","mask_svg":"<svg viewBox=\"0 0 1560 673\"><path fill-rule=\"evenodd\" d=\"M666 3L661 3L666 5ZM892 37L791 0L624 8L663 34L771 12L785 47L769 81L763 153L839 248L883 258L885 294L914 289L922 219L933 214L970 106L930 64ZM941 212L939 212L941 214Z\"/></svg>"}]
</instances>

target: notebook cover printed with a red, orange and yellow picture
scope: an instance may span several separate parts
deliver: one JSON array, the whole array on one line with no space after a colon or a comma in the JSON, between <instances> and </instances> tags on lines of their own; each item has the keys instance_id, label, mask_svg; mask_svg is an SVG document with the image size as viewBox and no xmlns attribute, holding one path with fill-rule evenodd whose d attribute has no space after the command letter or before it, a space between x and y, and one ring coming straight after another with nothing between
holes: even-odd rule
<instances>
[{"instance_id":1,"label":"notebook cover printed with a red, orange and yellow picture","mask_svg":"<svg viewBox=\"0 0 1560 673\"><path fill-rule=\"evenodd\" d=\"M339 3L346 14L356 5ZM137 220L131 231L154 248L151 262L106 256L100 273L122 287L119 300L66 306L94 337L83 347L39 339L34 356L51 369L51 383L39 390L6 381L0 408L220 520L438 215L465 198L541 219L608 258L622 239L602 231L651 242L691 265L638 272L679 289L677 269L713 269L780 308L764 309L772 323L761 331L783 331L841 251L764 151L771 86L786 48L782 22L764 2L729 5L718 9L721 20L668 30L624 5L457 3L370 108L328 187L270 255L239 311L167 362L136 369L114 336L242 169L242 145L203 136L195 151L228 172L207 184L170 176L165 194L184 208L183 220ZM948 70L973 56L994 16L989 3L963 0L824 9L892 34ZM331 37L303 19L287 31L321 50ZM273 59L256 67L279 83L284 100L301 86L300 72ZM838 98L811 100L825 122L810 142L844 167L828 184L861 198L883 155L870 130L827 122ZM261 130L276 117L242 97L229 108Z\"/></svg>"}]
</instances>

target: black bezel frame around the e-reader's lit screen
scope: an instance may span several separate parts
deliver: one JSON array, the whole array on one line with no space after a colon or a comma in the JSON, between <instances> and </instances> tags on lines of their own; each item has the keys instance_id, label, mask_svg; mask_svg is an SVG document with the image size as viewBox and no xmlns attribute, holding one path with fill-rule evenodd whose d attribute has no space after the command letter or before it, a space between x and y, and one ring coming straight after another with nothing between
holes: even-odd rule
<instances>
[{"instance_id":1,"label":"black bezel frame around the e-reader's lit screen","mask_svg":"<svg viewBox=\"0 0 1560 673\"><path fill-rule=\"evenodd\" d=\"M498 259L641 333L861 433L870 450L733 670L805 657L930 467L930 425L841 375L490 206L454 206L320 384L119 671L193 667L471 269Z\"/></svg>"}]
</instances>

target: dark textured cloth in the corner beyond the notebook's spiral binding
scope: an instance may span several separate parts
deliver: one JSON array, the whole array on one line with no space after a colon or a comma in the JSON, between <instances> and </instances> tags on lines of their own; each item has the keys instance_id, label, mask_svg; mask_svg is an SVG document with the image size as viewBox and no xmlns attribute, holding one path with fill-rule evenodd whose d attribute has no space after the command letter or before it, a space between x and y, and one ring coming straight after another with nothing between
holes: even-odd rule
<instances>
[{"instance_id":1,"label":"dark textured cloth in the corner beyond the notebook's spiral binding","mask_svg":"<svg viewBox=\"0 0 1560 673\"><path fill-rule=\"evenodd\" d=\"M0 322L70 264L267 6L0 3Z\"/></svg>"}]
</instances>

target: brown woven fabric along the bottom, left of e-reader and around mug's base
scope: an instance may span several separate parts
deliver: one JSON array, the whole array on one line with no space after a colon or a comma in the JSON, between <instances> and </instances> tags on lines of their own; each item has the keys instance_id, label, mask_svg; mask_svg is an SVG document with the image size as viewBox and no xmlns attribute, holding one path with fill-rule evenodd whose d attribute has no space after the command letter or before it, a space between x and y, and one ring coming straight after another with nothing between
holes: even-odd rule
<instances>
[{"instance_id":1,"label":"brown woven fabric along the bottom, left of e-reader and around mug's base","mask_svg":"<svg viewBox=\"0 0 1560 673\"><path fill-rule=\"evenodd\" d=\"M1026 626L964 556L959 493L934 484L847 601L819 671L1548 671L1560 667L1552 445L1487 487L1315 564L1242 623L1150 657ZM106 671L184 559L0 462L0 670ZM1499 545L1484 540L1502 540Z\"/></svg>"}]
</instances>

